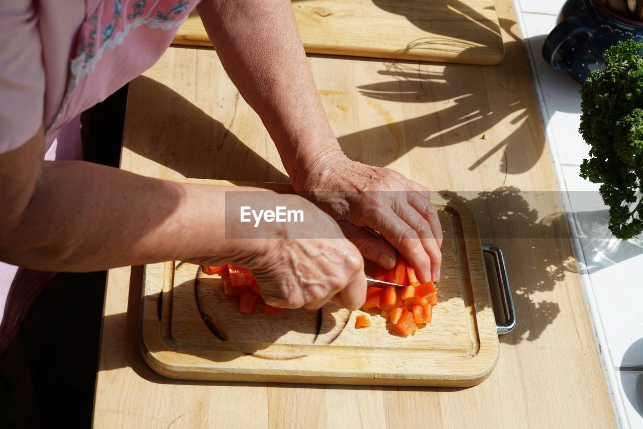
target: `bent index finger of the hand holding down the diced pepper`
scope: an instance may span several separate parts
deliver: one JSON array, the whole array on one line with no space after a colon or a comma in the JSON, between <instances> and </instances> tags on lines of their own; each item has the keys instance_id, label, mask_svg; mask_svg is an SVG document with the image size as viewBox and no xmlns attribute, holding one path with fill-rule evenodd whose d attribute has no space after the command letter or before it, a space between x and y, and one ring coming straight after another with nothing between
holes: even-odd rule
<instances>
[{"instance_id":1,"label":"bent index finger of the hand holding down the diced pepper","mask_svg":"<svg viewBox=\"0 0 643 429\"><path fill-rule=\"evenodd\" d=\"M421 218L419 214L417 214L417 217ZM424 219L422 220L424 221ZM392 208L388 207L368 214L365 217L365 221L370 228L379 231L386 241L399 250L409 264L415 267L420 280L426 281L431 278L431 259L413 226L406 223ZM424 222L426 223L426 221ZM416 227L420 229L424 236L427 235L426 231L430 231L428 224L426 228L421 228L418 222ZM433 245L437 248L435 240ZM428 243L427 246L429 246Z\"/></svg>"}]
</instances>

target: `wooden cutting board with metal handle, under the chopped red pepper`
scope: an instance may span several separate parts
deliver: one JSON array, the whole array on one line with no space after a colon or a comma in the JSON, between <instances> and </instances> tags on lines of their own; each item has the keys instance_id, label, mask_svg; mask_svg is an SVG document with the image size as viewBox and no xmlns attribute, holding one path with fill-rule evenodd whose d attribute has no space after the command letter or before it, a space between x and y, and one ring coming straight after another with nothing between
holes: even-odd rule
<instances>
[{"instance_id":1,"label":"wooden cutting board with metal handle, under the chopped red pepper","mask_svg":"<svg viewBox=\"0 0 643 429\"><path fill-rule=\"evenodd\" d=\"M195 183L233 185L228 181ZM237 183L292 192L289 185ZM254 316L224 297L221 278L199 266L145 267L141 349L156 372L179 379L365 385L471 386L493 370L498 335L482 248L471 212L433 194L444 232L442 281L431 324L404 338L379 315L355 329L362 311ZM374 267L367 268L374 271Z\"/></svg>"}]
</instances>

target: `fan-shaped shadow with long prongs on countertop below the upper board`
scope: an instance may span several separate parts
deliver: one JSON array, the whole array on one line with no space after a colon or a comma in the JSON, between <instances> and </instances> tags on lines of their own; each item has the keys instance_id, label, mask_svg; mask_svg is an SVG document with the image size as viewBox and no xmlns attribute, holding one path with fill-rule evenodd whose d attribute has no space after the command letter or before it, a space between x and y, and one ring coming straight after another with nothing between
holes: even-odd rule
<instances>
[{"instance_id":1,"label":"fan-shaped shadow with long prongs on countertop below the upper board","mask_svg":"<svg viewBox=\"0 0 643 429\"><path fill-rule=\"evenodd\" d=\"M512 31L515 24L500 19L503 30L511 37L505 42L505 50L507 55L525 55L520 36ZM406 141L413 141L414 146L437 148L473 143L485 140L496 127L511 126L512 131L468 169L475 170L496 152L504 150L500 171L520 174L531 169L539 159L545 148L545 138L533 129L533 120L529 119L530 112L536 112L536 106L530 105L530 98L523 93L525 88L521 86L521 79L515 77L516 73L529 73L529 69L526 64L519 67L514 62L511 64L511 67L501 64L488 68L493 71L487 72L484 67L462 64L443 67L423 62L387 62L385 69L378 73L390 76L391 80L362 85L358 90L374 100L440 104L429 114L397 122L406 133ZM381 134L386 136L385 127ZM533 156L525 156L525 140L534 141L529 147L534 151Z\"/></svg>"}]
</instances>

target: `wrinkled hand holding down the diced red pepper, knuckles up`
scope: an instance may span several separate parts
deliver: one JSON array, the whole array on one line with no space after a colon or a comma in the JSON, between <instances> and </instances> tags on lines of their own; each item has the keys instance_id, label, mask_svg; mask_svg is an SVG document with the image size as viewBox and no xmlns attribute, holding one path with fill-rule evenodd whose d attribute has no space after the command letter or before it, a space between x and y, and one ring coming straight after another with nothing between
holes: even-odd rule
<instances>
[{"instance_id":1,"label":"wrinkled hand holding down the diced red pepper, knuckles up","mask_svg":"<svg viewBox=\"0 0 643 429\"><path fill-rule=\"evenodd\" d=\"M340 223L367 259L391 269L395 248L420 280L440 280L442 228L427 188L394 170L351 161L343 154L321 157L293 184ZM374 239L365 226L386 241Z\"/></svg>"}]
</instances>

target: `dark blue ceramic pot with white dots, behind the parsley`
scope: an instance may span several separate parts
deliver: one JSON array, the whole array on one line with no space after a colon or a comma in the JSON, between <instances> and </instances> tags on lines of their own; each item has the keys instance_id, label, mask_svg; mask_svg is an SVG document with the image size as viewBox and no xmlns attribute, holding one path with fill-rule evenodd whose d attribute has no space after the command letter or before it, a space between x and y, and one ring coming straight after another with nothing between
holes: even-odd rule
<instances>
[{"instance_id":1,"label":"dark blue ceramic pot with white dots, behind the parsley","mask_svg":"<svg viewBox=\"0 0 643 429\"><path fill-rule=\"evenodd\" d=\"M583 82L604 69L602 53L626 39L643 40L643 23L620 17L596 0L567 0L558 25L545 39L543 58Z\"/></svg>"}]
</instances>

